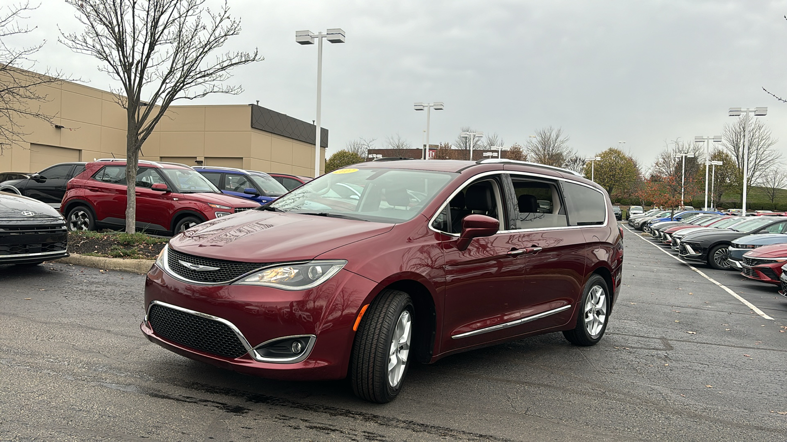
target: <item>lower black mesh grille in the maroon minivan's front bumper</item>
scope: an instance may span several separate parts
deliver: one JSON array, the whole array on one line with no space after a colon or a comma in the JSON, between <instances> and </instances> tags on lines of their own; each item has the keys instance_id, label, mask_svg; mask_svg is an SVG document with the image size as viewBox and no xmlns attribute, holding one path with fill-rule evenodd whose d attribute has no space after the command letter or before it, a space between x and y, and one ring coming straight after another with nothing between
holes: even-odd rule
<instances>
[{"instance_id":1,"label":"lower black mesh grille in the maroon minivan's front bumper","mask_svg":"<svg viewBox=\"0 0 787 442\"><path fill-rule=\"evenodd\" d=\"M159 304L150 308L148 321L154 333L177 344L227 358L246 354L238 335L222 322Z\"/></svg>"}]
</instances>

